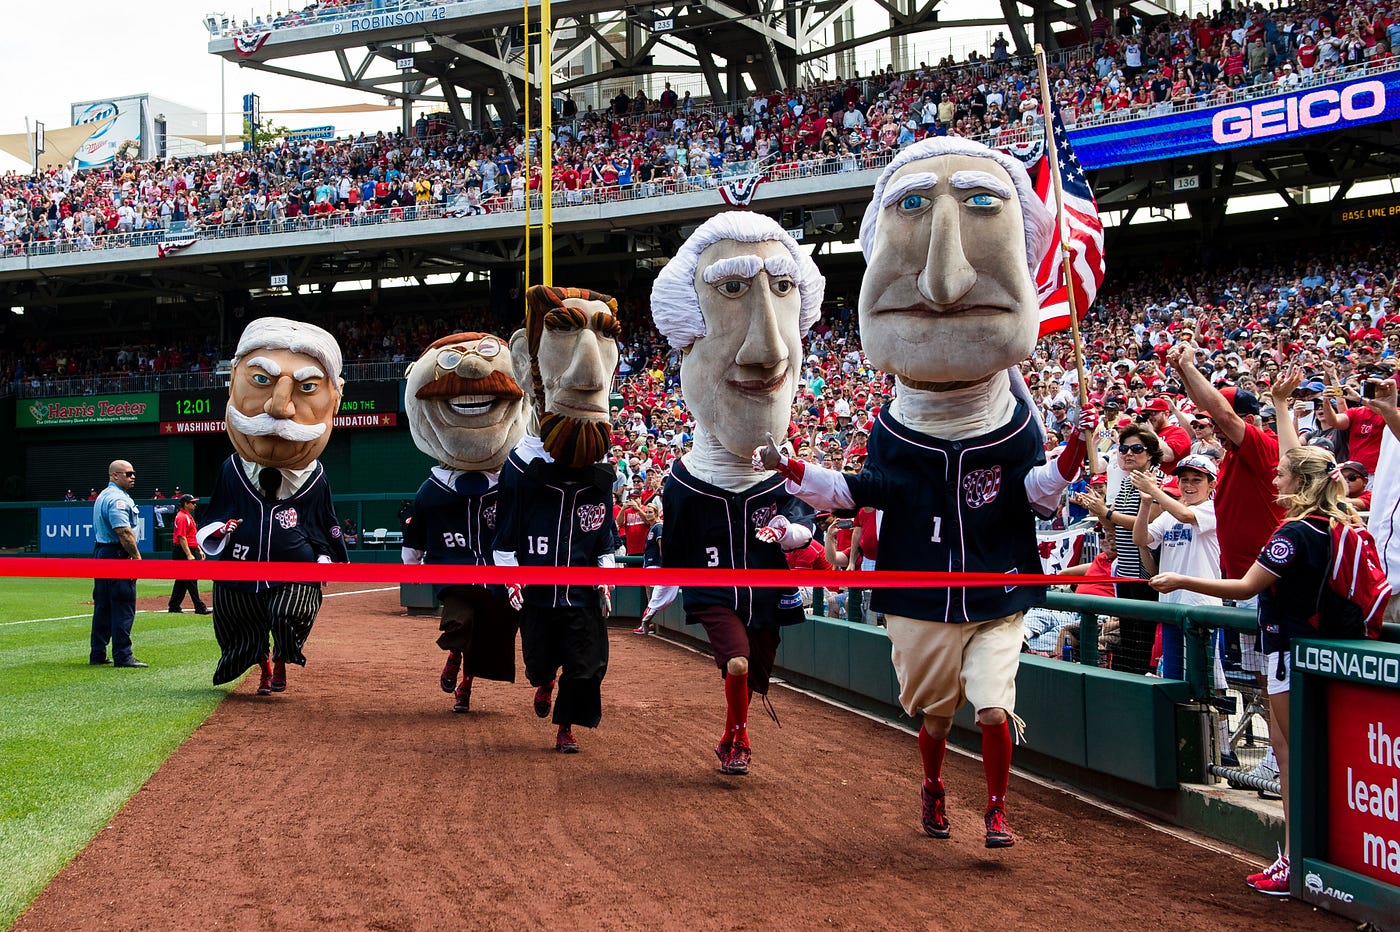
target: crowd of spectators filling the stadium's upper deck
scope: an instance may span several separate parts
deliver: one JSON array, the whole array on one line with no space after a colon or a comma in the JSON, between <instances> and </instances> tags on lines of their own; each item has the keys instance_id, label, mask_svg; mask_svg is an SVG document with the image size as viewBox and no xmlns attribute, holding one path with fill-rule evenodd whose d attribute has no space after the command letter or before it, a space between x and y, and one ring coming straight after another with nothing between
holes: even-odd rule
<instances>
[{"instance_id":1,"label":"crowd of spectators filling the stadium's upper deck","mask_svg":"<svg viewBox=\"0 0 1400 932\"><path fill-rule=\"evenodd\" d=\"M1051 62L1053 92L1071 126L1151 116L1288 90L1338 69L1389 67L1397 39L1400 20L1383 3L1256 6L1151 22L1100 14L1091 42ZM566 95L550 146L556 200L696 190L759 171L874 168L928 134L1012 144L1039 115L1036 80L998 34L990 55L966 62L890 66L743 102L696 99L669 83L655 97L619 91L605 109L580 111ZM526 140L519 126L465 132L423 116L406 133L10 172L0 176L0 256L521 210L539 196L539 150L538 133Z\"/></svg>"}]
</instances>

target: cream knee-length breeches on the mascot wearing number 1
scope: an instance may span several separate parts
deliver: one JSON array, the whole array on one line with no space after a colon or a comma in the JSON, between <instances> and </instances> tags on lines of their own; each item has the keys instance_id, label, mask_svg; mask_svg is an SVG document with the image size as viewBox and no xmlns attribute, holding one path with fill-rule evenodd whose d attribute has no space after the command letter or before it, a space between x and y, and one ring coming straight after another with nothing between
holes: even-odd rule
<instances>
[{"instance_id":1,"label":"cream knee-length breeches on the mascot wearing number 1","mask_svg":"<svg viewBox=\"0 0 1400 932\"><path fill-rule=\"evenodd\" d=\"M899 704L914 716L952 718L973 708L1016 709L1016 670L1025 627L1021 613L949 624L886 614Z\"/></svg>"}]
</instances>

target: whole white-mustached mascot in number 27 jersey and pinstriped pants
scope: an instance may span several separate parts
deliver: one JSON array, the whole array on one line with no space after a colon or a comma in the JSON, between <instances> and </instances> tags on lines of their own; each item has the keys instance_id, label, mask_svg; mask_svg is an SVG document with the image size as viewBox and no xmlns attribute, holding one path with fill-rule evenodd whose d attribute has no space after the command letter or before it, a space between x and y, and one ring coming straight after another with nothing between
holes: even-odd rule
<instances>
[{"instance_id":1,"label":"whole white-mustached mascot in number 27 jersey and pinstriped pants","mask_svg":"<svg viewBox=\"0 0 1400 932\"><path fill-rule=\"evenodd\" d=\"M234 354L224 417L234 455L224 460L197 533L221 560L347 563L330 486L316 458L340 407L340 347L309 323L262 318ZM262 668L258 694L287 689L321 609L315 582L214 582L214 683ZM267 635L272 635L272 662Z\"/></svg>"}]
</instances>

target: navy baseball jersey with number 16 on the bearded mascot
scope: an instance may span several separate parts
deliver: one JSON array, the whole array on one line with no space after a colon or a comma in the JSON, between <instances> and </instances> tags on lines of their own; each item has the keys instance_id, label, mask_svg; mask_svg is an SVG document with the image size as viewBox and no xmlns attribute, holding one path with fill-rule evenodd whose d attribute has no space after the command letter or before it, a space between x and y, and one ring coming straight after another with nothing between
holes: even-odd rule
<instances>
[{"instance_id":1,"label":"navy baseball jersey with number 16 on the bearded mascot","mask_svg":"<svg viewBox=\"0 0 1400 932\"><path fill-rule=\"evenodd\" d=\"M613 553L616 472L608 463L571 467L545 459L525 462L512 451L501 467L500 518L494 550L514 553L522 567L596 567ZM599 609L595 586L525 586L525 605L543 609Z\"/></svg>"}]
</instances>

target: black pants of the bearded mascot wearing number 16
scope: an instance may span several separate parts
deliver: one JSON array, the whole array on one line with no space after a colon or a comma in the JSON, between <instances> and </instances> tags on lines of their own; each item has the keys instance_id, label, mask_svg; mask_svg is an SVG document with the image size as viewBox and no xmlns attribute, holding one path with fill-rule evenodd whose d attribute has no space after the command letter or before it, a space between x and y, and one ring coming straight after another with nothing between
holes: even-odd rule
<instances>
[{"instance_id":1,"label":"black pants of the bearded mascot wearing number 16","mask_svg":"<svg viewBox=\"0 0 1400 932\"><path fill-rule=\"evenodd\" d=\"M521 609L521 652L531 686L559 679L556 725L598 728L608 675L608 621L602 612L526 605Z\"/></svg>"}]
</instances>

